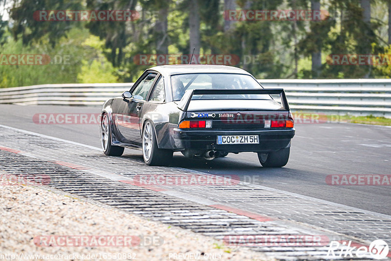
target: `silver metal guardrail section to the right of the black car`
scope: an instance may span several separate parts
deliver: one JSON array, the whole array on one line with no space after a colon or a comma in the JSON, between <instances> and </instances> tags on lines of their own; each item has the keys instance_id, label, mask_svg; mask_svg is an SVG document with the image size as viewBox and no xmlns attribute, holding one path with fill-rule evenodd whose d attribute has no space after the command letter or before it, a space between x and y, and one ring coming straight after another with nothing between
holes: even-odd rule
<instances>
[{"instance_id":1,"label":"silver metal guardrail section to the right of the black car","mask_svg":"<svg viewBox=\"0 0 391 261\"><path fill-rule=\"evenodd\" d=\"M259 81L284 88L292 110L391 117L391 79Z\"/></svg>"}]
</instances>

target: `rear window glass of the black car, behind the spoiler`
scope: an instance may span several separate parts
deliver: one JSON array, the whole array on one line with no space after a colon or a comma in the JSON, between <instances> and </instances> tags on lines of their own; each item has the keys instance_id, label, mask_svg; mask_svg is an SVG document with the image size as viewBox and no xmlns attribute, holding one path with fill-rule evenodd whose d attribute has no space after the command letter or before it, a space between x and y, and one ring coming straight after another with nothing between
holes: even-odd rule
<instances>
[{"instance_id":1,"label":"rear window glass of the black car, behind the spoiler","mask_svg":"<svg viewBox=\"0 0 391 261\"><path fill-rule=\"evenodd\" d=\"M173 100L182 99L186 90L192 89L261 89L250 75L228 73L189 73L171 76ZM193 99L262 99L271 100L267 94L194 95Z\"/></svg>"}]
</instances>

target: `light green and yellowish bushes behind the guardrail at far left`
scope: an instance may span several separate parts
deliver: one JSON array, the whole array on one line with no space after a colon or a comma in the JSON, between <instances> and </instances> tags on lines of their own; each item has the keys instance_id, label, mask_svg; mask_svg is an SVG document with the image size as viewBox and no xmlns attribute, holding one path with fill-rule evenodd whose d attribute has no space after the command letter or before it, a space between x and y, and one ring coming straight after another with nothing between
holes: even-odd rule
<instances>
[{"instance_id":1,"label":"light green and yellowish bushes behind the guardrail at far left","mask_svg":"<svg viewBox=\"0 0 391 261\"><path fill-rule=\"evenodd\" d=\"M106 77L113 82L112 65L98 47L86 44L86 36L89 36L87 29L73 28L54 47L48 40L25 45L22 39L15 41L8 37L1 54L46 54L51 62L48 65L0 65L0 87L87 82L87 75L95 75L99 80Z\"/></svg>"}]
</instances>

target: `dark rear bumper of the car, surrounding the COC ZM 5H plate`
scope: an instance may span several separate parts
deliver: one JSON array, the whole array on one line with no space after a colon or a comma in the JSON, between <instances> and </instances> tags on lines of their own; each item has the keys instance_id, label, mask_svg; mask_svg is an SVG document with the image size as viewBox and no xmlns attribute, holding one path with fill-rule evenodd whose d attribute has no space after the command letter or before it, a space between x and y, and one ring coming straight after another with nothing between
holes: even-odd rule
<instances>
[{"instance_id":1,"label":"dark rear bumper of the car, surrounding the COC ZM 5H plate","mask_svg":"<svg viewBox=\"0 0 391 261\"><path fill-rule=\"evenodd\" d=\"M224 152L273 152L289 146L295 129L261 131L183 131L174 129L174 144L181 150L216 150ZM217 145L217 135L259 135L260 144Z\"/></svg>"}]
</instances>

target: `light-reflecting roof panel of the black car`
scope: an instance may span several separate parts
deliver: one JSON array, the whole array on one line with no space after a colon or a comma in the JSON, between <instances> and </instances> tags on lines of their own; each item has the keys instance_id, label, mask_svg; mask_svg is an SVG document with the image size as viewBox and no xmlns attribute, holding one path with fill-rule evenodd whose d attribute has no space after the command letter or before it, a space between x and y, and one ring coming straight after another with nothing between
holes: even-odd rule
<instances>
[{"instance_id":1,"label":"light-reflecting roof panel of the black car","mask_svg":"<svg viewBox=\"0 0 391 261\"><path fill-rule=\"evenodd\" d=\"M150 68L163 75L183 74L183 73L239 73L251 75L245 70L226 65L159 65Z\"/></svg>"}]
</instances>

